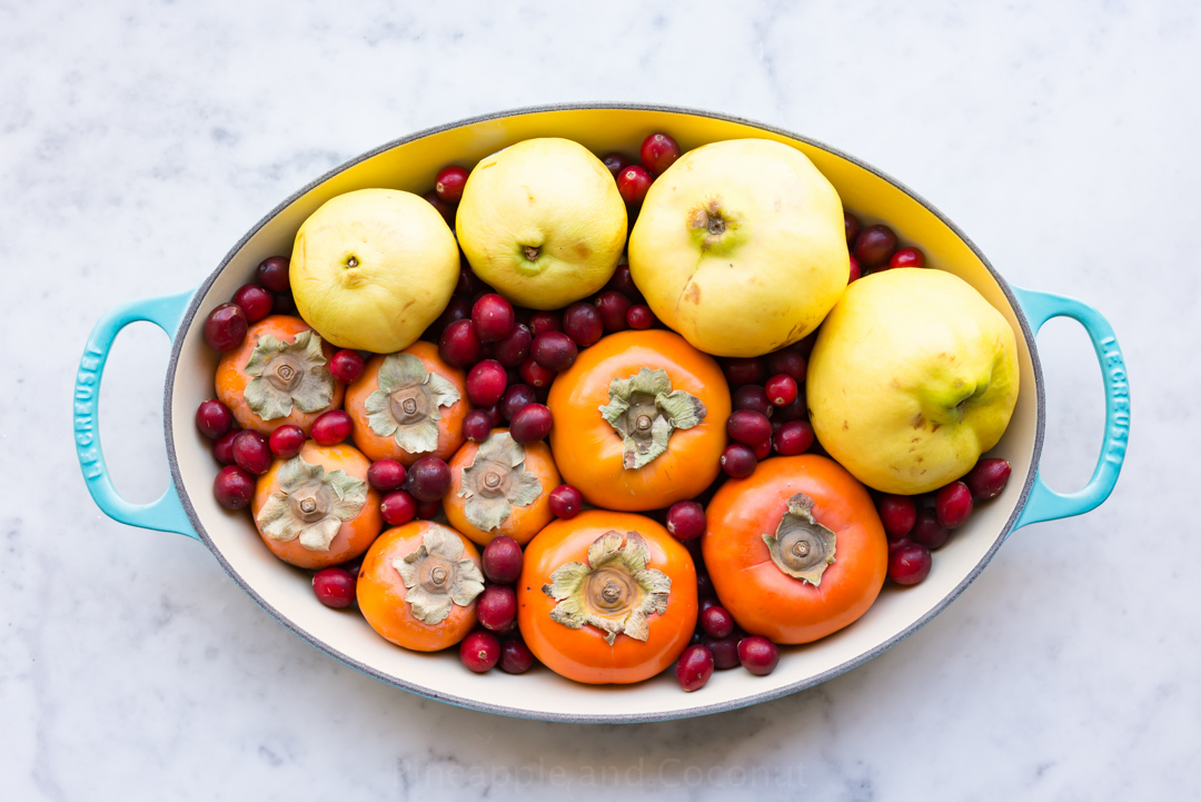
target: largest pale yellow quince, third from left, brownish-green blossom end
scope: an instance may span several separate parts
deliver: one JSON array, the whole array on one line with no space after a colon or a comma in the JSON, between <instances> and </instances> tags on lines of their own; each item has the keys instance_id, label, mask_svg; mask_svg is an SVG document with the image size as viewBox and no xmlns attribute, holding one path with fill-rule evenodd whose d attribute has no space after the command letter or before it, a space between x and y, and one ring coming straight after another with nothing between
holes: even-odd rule
<instances>
[{"instance_id":1,"label":"largest pale yellow quince, third from left, brownish-green blossom end","mask_svg":"<svg viewBox=\"0 0 1201 802\"><path fill-rule=\"evenodd\" d=\"M735 226L704 247L692 222L712 203ZM813 331L849 264L838 193L805 154L769 139L681 156L651 185L629 237L629 271L651 311L718 357L757 357Z\"/></svg>"}]
</instances>

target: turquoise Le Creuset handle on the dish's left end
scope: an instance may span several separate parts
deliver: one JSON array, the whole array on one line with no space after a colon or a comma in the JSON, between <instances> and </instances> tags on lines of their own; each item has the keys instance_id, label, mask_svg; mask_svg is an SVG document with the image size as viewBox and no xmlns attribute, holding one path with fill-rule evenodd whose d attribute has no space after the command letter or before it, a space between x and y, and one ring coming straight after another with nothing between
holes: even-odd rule
<instances>
[{"instance_id":1,"label":"turquoise Le Creuset handle on the dish's left end","mask_svg":"<svg viewBox=\"0 0 1201 802\"><path fill-rule=\"evenodd\" d=\"M104 465L104 453L100 445L100 379L104 373L104 363L118 333L130 323L148 321L167 333L172 340L179 329L179 321L192 299L193 291L163 298L147 298L124 304L109 310L100 318L96 328L88 337L88 345L79 360L79 372L76 375L74 390L74 438L79 467L88 483L88 491L101 511L121 523L141 526L160 532L177 532L199 540L179 492L172 481L157 501L149 504L131 504L118 495L113 480L108 477Z\"/></svg>"}]
</instances>

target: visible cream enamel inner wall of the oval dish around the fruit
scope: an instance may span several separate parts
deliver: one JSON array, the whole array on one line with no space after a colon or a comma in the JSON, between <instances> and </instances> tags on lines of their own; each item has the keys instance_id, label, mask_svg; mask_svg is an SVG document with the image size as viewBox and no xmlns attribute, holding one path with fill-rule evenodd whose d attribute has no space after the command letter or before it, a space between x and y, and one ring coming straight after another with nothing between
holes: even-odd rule
<instances>
[{"instance_id":1,"label":"visible cream enamel inner wall of the oval dish around the fruit","mask_svg":"<svg viewBox=\"0 0 1201 802\"><path fill-rule=\"evenodd\" d=\"M245 513L229 513L213 497L219 468L210 443L196 430L197 405L211 397L216 354L203 340L202 323L216 305L251 280L258 263L289 253L300 223L335 194L365 187L394 187L422 193L448 163L471 167L484 156L521 139L555 136L581 142L593 152L637 154L653 131L675 136L683 149L719 139L765 137L802 150L831 180L843 204L865 225L888 222L901 240L920 246L930 265L968 281L1014 327L1021 363L1021 390L1012 421L992 454L1012 463L1005 492L978 508L970 522L937 552L933 570L921 585L885 587L879 600L852 627L819 642L791 647L773 674L754 677L746 671L719 671L701 692L681 693L668 672L627 687L590 687L562 680L546 669L522 676L500 671L474 675L449 650L420 654L395 647L377 636L357 612L322 606L312 595L309 574L277 561L262 544ZM1038 439L1038 391L1030 341L998 281L973 249L946 223L906 191L876 173L819 146L765 131L749 122L657 109L567 108L516 113L437 131L396 144L341 169L304 192L269 217L219 269L202 291L195 315L185 317L168 406L177 485L190 503L211 549L231 574L273 615L318 647L381 680L428 696L515 716L574 720L650 720L728 710L813 684L867 659L882 646L912 632L954 595L991 556L1004 538L1034 472ZM195 301L193 301L195 303Z\"/></svg>"}]
</instances>

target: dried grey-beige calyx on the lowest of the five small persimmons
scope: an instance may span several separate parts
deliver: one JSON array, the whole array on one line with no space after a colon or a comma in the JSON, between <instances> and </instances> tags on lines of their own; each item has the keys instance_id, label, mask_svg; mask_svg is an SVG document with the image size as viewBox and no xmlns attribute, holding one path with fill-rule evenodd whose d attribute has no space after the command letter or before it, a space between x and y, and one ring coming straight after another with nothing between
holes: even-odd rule
<instances>
[{"instance_id":1,"label":"dried grey-beige calyx on the lowest of the five small persimmons","mask_svg":"<svg viewBox=\"0 0 1201 802\"><path fill-rule=\"evenodd\" d=\"M407 593L413 617L436 626L454 605L465 608L484 592L484 575L452 529L437 523L422 534L422 545L392 561Z\"/></svg>"}]
</instances>

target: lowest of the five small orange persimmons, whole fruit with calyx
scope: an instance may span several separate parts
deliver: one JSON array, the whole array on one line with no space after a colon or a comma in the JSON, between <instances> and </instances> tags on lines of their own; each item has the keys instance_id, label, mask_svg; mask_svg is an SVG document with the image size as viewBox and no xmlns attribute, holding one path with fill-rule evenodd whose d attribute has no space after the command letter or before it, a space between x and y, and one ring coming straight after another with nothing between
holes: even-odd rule
<instances>
[{"instance_id":1,"label":"lowest of the five small orange persimmons, whole fruit with calyx","mask_svg":"<svg viewBox=\"0 0 1201 802\"><path fill-rule=\"evenodd\" d=\"M412 521L371 545L355 593L363 617L382 638L436 652L472 630L483 589L479 551L467 538L434 521Z\"/></svg>"}]
</instances>

